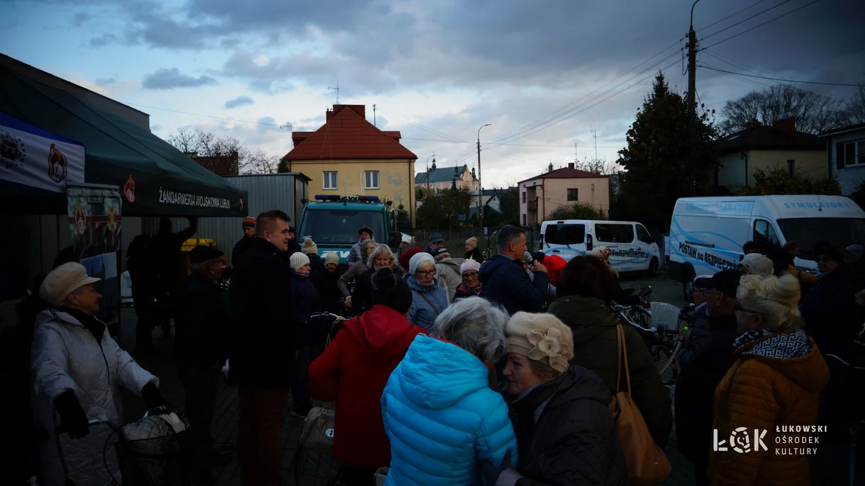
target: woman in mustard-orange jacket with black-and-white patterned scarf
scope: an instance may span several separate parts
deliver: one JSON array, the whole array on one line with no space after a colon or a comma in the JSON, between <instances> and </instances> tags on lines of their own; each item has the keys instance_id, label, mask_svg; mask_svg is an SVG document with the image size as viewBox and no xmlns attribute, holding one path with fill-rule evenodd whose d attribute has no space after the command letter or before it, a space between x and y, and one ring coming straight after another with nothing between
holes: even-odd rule
<instances>
[{"instance_id":1,"label":"woman in mustard-orange jacket with black-and-white patterned scarf","mask_svg":"<svg viewBox=\"0 0 865 486\"><path fill-rule=\"evenodd\" d=\"M816 425L820 392L829 382L817 344L799 327L799 283L792 275L745 275L736 297L739 359L714 392L714 429L720 438L764 431L759 439L769 451L753 438L745 454L731 445L711 451L709 477L712 484L811 484L807 455L771 452L785 447L776 438L807 442L807 432L779 434L777 426Z\"/></svg>"}]
</instances>

